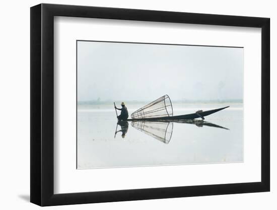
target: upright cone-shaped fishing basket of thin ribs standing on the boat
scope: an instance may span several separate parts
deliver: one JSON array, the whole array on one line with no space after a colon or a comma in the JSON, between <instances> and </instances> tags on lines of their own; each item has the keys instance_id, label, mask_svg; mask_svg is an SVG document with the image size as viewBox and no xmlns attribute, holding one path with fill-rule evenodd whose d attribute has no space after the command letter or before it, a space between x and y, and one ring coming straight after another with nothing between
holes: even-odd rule
<instances>
[{"instance_id":1,"label":"upright cone-shaped fishing basket of thin ribs standing on the boat","mask_svg":"<svg viewBox=\"0 0 277 210\"><path fill-rule=\"evenodd\" d=\"M131 114L132 119L148 119L173 116L172 103L168 95L147 104Z\"/></svg>"}]
</instances>

